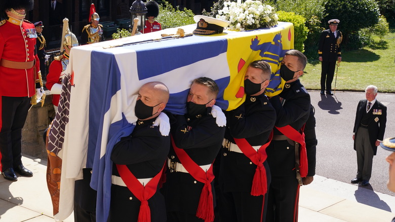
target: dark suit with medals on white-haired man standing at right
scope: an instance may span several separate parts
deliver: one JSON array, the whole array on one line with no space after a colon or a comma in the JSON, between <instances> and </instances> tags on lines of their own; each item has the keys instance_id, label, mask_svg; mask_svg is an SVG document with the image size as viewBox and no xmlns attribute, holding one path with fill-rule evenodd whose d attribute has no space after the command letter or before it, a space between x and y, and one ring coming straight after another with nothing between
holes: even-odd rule
<instances>
[{"instance_id":1,"label":"dark suit with medals on white-haired man standing at right","mask_svg":"<svg viewBox=\"0 0 395 222\"><path fill-rule=\"evenodd\" d=\"M373 156L377 153L377 140L383 140L387 122L387 107L376 99L366 112L367 99L358 103L355 115L354 150L357 151L357 178L369 180L372 174Z\"/></svg>"}]
</instances>

